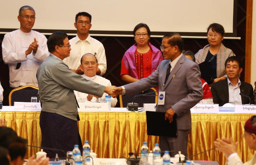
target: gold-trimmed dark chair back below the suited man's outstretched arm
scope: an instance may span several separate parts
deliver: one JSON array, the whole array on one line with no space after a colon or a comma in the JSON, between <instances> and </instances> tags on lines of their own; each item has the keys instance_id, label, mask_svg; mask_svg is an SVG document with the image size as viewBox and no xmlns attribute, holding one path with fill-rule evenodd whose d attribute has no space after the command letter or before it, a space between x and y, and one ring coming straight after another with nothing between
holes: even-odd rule
<instances>
[{"instance_id":1,"label":"gold-trimmed dark chair back below the suited man's outstretched arm","mask_svg":"<svg viewBox=\"0 0 256 165\"><path fill-rule=\"evenodd\" d=\"M150 92L156 92L155 88L150 88L146 91L144 91L143 93L136 93L136 94L132 94L132 95L119 95L119 100L120 100L120 107L127 107L127 103L131 103L134 96L136 95L140 95L140 94L146 94L146 93L150 93ZM157 95L157 93L152 93L149 95ZM157 103L157 96L138 96L134 98L134 103L139 103L139 107L143 107L143 104L148 104L148 103Z\"/></svg>"}]
</instances>

